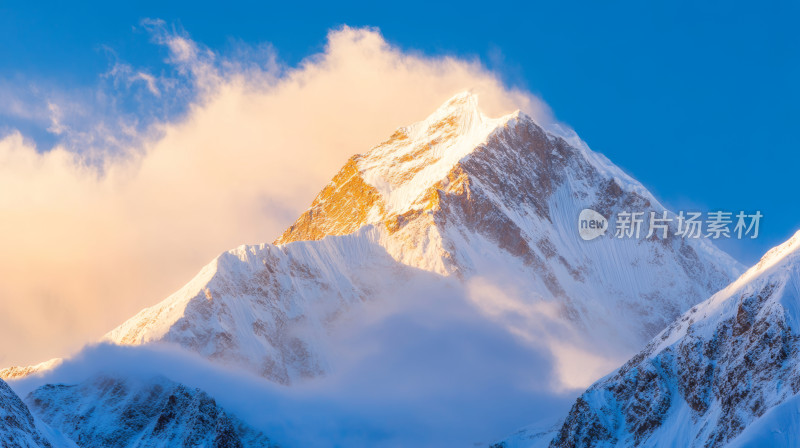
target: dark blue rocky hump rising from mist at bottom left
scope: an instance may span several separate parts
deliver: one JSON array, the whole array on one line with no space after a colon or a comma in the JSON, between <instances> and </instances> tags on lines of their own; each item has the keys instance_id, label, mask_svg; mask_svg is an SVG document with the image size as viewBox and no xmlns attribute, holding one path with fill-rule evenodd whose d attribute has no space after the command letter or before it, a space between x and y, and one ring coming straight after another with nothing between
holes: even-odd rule
<instances>
[{"instance_id":1,"label":"dark blue rocky hump rising from mist at bottom left","mask_svg":"<svg viewBox=\"0 0 800 448\"><path fill-rule=\"evenodd\" d=\"M165 378L96 377L76 385L48 384L31 392L27 402L80 447L274 446L205 392Z\"/></svg>"}]
</instances>

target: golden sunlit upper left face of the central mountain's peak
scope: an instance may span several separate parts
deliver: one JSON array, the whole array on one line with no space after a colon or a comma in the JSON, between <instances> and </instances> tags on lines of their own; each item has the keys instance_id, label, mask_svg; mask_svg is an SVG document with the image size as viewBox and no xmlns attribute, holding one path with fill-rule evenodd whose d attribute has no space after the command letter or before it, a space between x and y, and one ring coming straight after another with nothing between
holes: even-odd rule
<instances>
[{"instance_id":1,"label":"golden sunlit upper left face of the central mountain's peak","mask_svg":"<svg viewBox=\"0 0 800 448\"><path fill-rule=\"evenodd\" d=\"M275 244L344 235L424 210L432 189L517 117L487 117L471 92L451 97L424 120L398 128L386 141L352 157Z\"/></svg>"}]
</instances>

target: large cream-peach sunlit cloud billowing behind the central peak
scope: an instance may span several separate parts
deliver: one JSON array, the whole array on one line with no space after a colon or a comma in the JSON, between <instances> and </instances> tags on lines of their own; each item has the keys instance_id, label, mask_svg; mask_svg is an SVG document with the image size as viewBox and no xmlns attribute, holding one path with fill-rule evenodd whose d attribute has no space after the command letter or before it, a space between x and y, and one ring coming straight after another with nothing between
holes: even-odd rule
<instances>
[{"instance_id":1,"label":"large cream-peach sunlit cloud billowing behind the central peak","mask_svg":"<svg viewBox=\"0 0 800 448\"><path fill-rule=\"evenodd\" d=\"M191 92L179 118L142 128L88 114L81 128L65 121L80 105L53 100L30 108L49 110L60 144L0 140L2 365L72 352L218 253L273 240L349 156L459 91L477 92L490 115L549 120L477 61L404 52L376 30L331 31L321 54L286 67L268 45L223 57L144 25L190 84L122 62L109 79L166 102Z\"/></svg>"}]
</instances>

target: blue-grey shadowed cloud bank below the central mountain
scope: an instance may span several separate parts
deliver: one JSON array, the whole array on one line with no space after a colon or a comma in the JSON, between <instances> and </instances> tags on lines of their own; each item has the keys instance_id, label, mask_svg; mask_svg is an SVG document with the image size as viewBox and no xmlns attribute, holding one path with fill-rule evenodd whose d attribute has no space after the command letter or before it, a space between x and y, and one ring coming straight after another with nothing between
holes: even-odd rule
<instances>
[{"instance_id":1,"label":"blue-grey shadowed cloud bank below the central mountain","mask_svg":"<svg viewBox=\"0 0 800 448\"><path fill-rule=\"evenodd\" d=\"M327 341L332 373L291 387L169 345L90 347L12 387L25 396L95 375L163 375L205 390L287 447L488 446L566 414L579 391L552 388L560 379L546 344L486 319L469 289L423 278L367 302Z\"/></svg>"}]
</instances>

